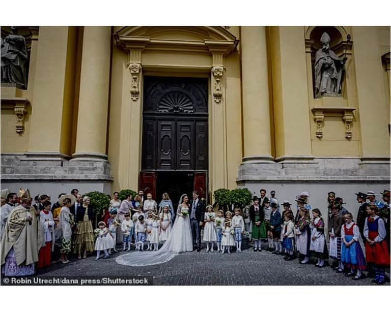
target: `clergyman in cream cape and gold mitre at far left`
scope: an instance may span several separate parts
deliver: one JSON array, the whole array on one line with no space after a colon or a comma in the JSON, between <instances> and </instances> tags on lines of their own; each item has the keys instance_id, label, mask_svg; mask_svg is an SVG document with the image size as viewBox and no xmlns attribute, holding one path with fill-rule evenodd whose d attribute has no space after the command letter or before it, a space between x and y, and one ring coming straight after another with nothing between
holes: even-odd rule
<instances>
[{"instance_id":1,"label":"clergyman in cream cape and gold mitre at far left","mask_svg":"<svg viewBox=\"0 0 391 312\"><path fill-rule=\"evenodd\" d=\"M30 192L20 189L19 193L20 205L11 211L1 241L5 276L33 275L43 241Z\"/></svg>"}]
</instances>

